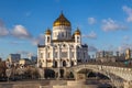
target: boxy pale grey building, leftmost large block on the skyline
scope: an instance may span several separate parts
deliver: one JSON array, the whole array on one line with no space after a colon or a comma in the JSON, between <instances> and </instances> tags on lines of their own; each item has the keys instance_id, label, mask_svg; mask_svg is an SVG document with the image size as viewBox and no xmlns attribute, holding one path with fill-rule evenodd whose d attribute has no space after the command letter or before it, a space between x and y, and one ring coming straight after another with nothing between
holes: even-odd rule
<instances>
[{"instance_id":1,"label":"boxy pale grey building, leftmost large block on the skyline","mask_svg":"<svg viewBox=\"0 0 132 88\"><path fill-rule=\"evenodd\" d=\"M20 58L21 58L20 54L10 54L7 62L10 65L12 65L12 64L19 64Z\"/></svg>"}]
</instances>

